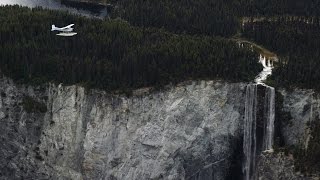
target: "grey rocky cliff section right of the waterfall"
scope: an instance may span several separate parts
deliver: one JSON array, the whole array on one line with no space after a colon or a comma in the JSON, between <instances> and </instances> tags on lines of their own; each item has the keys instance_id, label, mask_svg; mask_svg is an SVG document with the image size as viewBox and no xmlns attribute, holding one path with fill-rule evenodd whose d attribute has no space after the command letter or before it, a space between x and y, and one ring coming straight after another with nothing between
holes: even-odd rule
<instances>
[{"instance_id":1,"label":"grey rocky cliff section right of the waterfall","mask_svg":"<svg viewBox=\"0 0 320 180\"><path fill-rule=\"evenodd\" d=\"M286 120L276 118L277 121L284 121L280 123L284 144L286 147L293 145L302 148L304 152L309 153L307 149L310 146L311 138L313 138L311 136L311 127L320 120L320 97L312 90L280 90L280 93L283 96L282 111L289 114L289 119ZM317 154L315 152L312 153ZM307 159L316 158L306 157ZM319 179L319 175L316 174L312 175L312 177L306 177L300 172L296 172L295 161L296 159L290 153L288 155L283 153L264 153L259 160L259 178L261 180Z\"/></svg>"}]
</instances>

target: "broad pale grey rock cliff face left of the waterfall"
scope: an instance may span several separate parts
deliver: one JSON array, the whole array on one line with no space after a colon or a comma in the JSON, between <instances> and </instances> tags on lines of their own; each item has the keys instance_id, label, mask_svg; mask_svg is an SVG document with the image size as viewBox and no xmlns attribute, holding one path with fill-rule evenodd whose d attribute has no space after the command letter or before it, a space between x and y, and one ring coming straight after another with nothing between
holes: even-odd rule
<instances>
[{"instance_id":1,"label":"broad pale grey rock cliff face left of the waterfall","mask_svg":"<svg viewBox=\"0 0 320 180\"><path fill-rule=\"evenodd\" d=\"M190 82L127 98L2 78L0 177L224 179L242 141L245 86ZM27 113L26 96L47 112Z\"/></svg>"}]
</instances>

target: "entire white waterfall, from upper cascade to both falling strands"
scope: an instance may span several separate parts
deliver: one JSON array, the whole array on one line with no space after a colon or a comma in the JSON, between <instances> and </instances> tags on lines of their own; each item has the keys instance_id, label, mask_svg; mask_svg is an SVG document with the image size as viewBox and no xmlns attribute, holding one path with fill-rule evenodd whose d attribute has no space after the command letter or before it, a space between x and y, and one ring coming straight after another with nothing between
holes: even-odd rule
<instances>
[{"instance_id":1,"label":"entire white waterfall, from upper cascade to both falling strands","mask_svg":"<svg viewBox=\"0 0 320 180\"><path fill-rule=\"evenodd\" d=\"M263 65L263 70L255 78L255 83L248 84L246 88L243 129L244 180L257 179L255 173L256 157L262 151L272 150L275 120L275 89L263 82L272 74L274 60L276 60L276 57L266 58L260 55L259 62ZM261 91L264 91L264 93L261 93Z\"/></svg>"}]
</instances>

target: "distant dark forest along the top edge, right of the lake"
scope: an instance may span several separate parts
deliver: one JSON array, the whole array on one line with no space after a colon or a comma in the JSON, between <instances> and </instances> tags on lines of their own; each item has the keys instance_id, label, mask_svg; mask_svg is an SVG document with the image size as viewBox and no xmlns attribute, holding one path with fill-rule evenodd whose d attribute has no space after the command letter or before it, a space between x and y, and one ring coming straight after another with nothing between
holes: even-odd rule
<instances>
[{"instance_id":1,"label":"distant dark forest along the top edge, right of the lake","mask_svg":"<svg viewBox=\"0 0 320 180\"><path fill-rule=\"evenodd\" d=\"M316 16L315 0L118 0L114 17L145 27L170 31L230 37L243 16Z\"/></svg>"}]
</instances>

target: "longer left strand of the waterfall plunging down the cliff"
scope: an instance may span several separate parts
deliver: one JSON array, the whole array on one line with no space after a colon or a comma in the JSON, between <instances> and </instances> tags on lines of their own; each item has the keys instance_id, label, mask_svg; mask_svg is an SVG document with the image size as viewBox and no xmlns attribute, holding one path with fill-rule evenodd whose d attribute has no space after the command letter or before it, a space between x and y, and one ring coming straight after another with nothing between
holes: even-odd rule
<instances>
[{"instance_id":1,"label":"longer left strand of the waterfall plunging down the cliff","mask_svg":"<svg viewBox=\"0 0 320 180\"><path fill-rule=\"evenodd\" d=\"M251 180L255 171L256 156L256 120L257 120L257 84L249 84L246 89L243 151L245 155L244 180Z\"/></svg>"}]
</instances>

